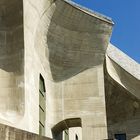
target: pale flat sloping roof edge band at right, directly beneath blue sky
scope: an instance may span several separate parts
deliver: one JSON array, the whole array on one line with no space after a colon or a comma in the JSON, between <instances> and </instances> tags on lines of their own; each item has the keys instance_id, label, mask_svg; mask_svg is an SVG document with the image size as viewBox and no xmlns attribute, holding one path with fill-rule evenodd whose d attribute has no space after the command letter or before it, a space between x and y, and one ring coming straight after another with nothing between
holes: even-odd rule
<instances>
[{"instance_id":1,"label":"pale flat sloping roof edge band at right, directly beneath blue sky","mask_svg":"<svg viewBox=\"0 0 140 140\"><path fill-rule=\"evenodd\" d=\"M128 55L123 53L117 47L112 44L109 44L106 51L107 56L122 67L129 74L134 76L136 79L140 80L140 64L135 60L130 58Z\"/></svg>"}]
</instances>

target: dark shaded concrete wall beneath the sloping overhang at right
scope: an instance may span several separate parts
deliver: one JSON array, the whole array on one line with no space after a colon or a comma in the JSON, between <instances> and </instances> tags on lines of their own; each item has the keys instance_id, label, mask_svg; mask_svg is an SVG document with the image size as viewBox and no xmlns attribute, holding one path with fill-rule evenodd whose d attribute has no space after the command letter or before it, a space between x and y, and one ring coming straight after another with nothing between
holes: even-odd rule
<instances>
[{"instance_id":1,"label":"dark shaded concrete wall beneath the sloping overhang at right","mask_svg":"<svg viewBox=\"0 0 140 140\"><path fill-rule=\"evenodd\" d=\"M140 100L112 79L104 68L108 137L113 139L115 134L126 134L127 140L139 137Z\"/></svg>"}]
</instances>

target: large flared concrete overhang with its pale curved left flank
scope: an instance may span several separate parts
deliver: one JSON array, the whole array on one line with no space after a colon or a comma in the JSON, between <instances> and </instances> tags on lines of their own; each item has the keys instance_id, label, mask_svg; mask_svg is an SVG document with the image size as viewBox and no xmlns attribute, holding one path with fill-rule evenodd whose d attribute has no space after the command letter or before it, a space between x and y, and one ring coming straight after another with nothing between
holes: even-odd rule
<instances>
[{"instance_id":1,"label":"large flared concrete overhang with its pale curved left flank","mask_svg":"<svg viewBox=\"0 0 140 140\"><path fill-rule=\"evenodd\" d=\"M73 2L55 0L41 16L35 46L52 80L68 79L104 62L113 22ZM39 38L39 39L38 39Z\"/></svg>"}]
</instances>

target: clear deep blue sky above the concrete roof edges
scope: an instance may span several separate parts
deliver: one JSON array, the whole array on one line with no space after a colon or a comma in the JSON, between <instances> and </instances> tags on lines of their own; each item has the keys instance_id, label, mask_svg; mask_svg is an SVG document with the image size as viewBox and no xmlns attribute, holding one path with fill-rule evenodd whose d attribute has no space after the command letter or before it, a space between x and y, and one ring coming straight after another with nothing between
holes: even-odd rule
<instances>
[{"instance_id":1,"label":"clear deep blue sky above the concrete roof edges","mask_svg":"<svg viewBox=\"0 0 140 140\"><path fill-rule=\"evenodd\" d=\"M114 21L111 43L140 63L140 0L72 0Z\"/></svg>"}]
</instances>

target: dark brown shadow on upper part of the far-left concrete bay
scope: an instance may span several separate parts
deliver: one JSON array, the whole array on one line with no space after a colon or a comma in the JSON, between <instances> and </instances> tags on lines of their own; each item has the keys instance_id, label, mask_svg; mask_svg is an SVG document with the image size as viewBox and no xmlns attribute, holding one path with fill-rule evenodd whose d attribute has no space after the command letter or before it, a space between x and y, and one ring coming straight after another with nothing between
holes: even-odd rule
<instances>
[{"instance_id":1,"label":"dark brown shadow on upper part of the far-left concrete bay","mask_svg":"<svg viewBox=\"0 0 140 140\"><path fill-rule=\"evenodd\" d=\"M23 73L22 0L0 2L0 69Z\"/></svg>"}]
</instances>

